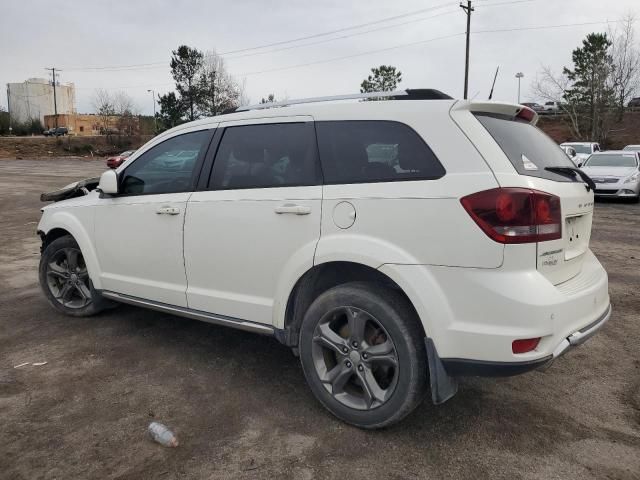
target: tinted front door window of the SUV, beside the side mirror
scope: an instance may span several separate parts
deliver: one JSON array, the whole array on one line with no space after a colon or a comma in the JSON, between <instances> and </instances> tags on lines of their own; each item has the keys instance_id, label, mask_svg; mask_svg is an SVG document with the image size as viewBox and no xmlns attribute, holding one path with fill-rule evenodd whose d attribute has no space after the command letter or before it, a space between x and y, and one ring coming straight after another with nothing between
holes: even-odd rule
<instances>
[{"instance_id":1,"label":"tinted front door window of the SUV, beside the side mirror","mask_svg":"<svg viewBox=\"0 0 640 480\"><path fill-rule=\"evenodd\" d=\"M120 189L127 195L188 192L193 189L196 165L211 132L185 133L143 153L124 171Z\"/></svg>"}]
</instances>

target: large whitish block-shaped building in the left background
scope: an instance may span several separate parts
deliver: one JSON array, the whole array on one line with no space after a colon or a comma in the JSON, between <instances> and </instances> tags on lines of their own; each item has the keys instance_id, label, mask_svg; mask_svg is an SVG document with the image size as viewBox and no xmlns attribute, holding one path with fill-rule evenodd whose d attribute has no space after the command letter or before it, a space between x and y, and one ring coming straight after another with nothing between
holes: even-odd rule
<instances>
[{"instance_id":1,"label":"large whitish block-shaped building in the left background","mask_svg":"<svg viewBox=\"0 0 640 480\"><path fill-rule=\"evenodd\" d=\"M55 113L53 85L44 78L30 78L22 83L7 84L7 100L11 123L40 119ZM56 84L58 114L76 113L76 90L73 83Z\"/></svg>"}]
</instances>

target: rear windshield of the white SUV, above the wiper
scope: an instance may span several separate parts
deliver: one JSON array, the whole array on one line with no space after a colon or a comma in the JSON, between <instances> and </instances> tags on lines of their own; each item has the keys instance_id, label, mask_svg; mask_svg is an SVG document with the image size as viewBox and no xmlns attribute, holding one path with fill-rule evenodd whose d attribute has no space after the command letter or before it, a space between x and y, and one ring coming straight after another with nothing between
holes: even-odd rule
<instances>
[{"instance_id":1,"label":"rear windshield of the white SUV, above the wiper","mask_svg":"<svg viewBox=\"0 0 640 480\"><path fill-rule=\"evenodd\" d=\"M503 115L476 114L476 118L491 134L520 175L560 182L578 181L545 170L546 167L575 168L575 165L539 128Z\"/></svg>"}]
</instances>

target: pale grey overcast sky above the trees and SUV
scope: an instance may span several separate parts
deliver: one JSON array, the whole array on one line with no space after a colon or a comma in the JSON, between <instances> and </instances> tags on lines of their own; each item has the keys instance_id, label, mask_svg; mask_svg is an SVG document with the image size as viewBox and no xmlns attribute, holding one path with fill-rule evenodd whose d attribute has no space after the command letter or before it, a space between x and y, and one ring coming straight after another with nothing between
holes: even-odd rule
<instances>
[{"instance_id":1,"label":"pale grey overcast sky above the trees and SUV","mask_svg":"<svg viewBox=\"0 0 640 480\"><path fill-rule=\"evenodd\" d=\"M499 65L494 98L508 101L517 97L516 72L525 75L522 101L529 100L541 64L556 70L569 65L587 33L640 12L638 0L473 3L469 95L486 98ZM396 18L381 21L390 17ZM482 33L591 22L603 23ZM369 25L350 29L362 24ZM357 92L369 69L381 64L402 71L400 87L461 97L465 26L458 2L447 0L3 0L0 83L46 77L45 67L55 66L62 69L61 81L75 83L79 112L92 111L91 97L101 87L126 91L148 114L153 104L147 89L173 90L168 63L180 44L224 53L317 35L224 55L227 68L246 82L253 103L269 93L297 98ZM335 30L342 31L319 35ZM6 107L6 93L0 105Z\"/></svg>"}]
</instances>

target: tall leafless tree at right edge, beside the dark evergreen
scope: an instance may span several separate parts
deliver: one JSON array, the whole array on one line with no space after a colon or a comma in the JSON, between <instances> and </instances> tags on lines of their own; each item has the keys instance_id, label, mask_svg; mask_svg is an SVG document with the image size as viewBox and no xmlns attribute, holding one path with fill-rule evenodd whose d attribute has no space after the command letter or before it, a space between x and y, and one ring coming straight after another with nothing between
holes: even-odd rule
<instances>
[{"instance_id":1,"label":"tall leafless tree at right edge, beside the dark evergreen","mask_svg":"<svg viewBox=\"0 0 640 480\"><path fill-rule=\"evenodd\" d=\"M635 37L636 17L627 14L615 28L609 30L612 39L612 81L614 84L618 120L622 120L624 106L637 91L640 84L640 49Z\"/></svg>"}]
</instances>

